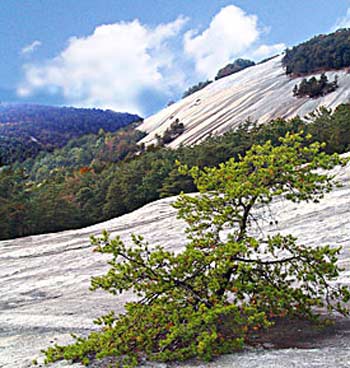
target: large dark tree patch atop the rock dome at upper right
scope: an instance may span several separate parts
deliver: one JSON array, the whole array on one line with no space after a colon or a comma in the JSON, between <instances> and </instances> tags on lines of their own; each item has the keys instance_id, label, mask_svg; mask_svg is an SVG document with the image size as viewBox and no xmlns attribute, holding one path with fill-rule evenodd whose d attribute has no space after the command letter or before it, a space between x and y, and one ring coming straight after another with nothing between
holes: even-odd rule
<instances>
[{"instance_id":1,"label":"large dark tree patch atop the rock dome at upper right","mask_svg":"<svg viewBox=\"0 0 350 368\"><path fill-rule=\"evenodd\" d=\"M350 29L319 35L287 49L282 59L286 73L300 76L350 66Z\"/></svg>"}]
</instances>

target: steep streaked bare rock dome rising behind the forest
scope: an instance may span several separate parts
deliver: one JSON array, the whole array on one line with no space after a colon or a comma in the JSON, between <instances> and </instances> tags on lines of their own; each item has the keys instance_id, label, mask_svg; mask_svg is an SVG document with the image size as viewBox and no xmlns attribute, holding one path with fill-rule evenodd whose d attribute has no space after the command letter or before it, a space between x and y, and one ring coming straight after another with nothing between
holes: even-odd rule
<instances>
[{"instance_id":1,"label":"steep streaked bare rock dome rising behind the forest","mask_svg":"<svg viewBox=\"0 0 350 368\"><path fill-rule=\"evenodd\" d=\"M150 116L138 127L148 133L141 142L155 143L155 135L162 136L177 119L184 124L185 132L169 144L172 148L198 143L209 134L222 134L247 119L266 123L279 117L305 116L319 106L334 108L349 102L350 74L347 71L326 73L330 81L338 75L336 91L317 99L296 98L292 90L302 78L287 76L281 60L282 56L277 56L222 78Z\"/></svg>"}]
</instances>

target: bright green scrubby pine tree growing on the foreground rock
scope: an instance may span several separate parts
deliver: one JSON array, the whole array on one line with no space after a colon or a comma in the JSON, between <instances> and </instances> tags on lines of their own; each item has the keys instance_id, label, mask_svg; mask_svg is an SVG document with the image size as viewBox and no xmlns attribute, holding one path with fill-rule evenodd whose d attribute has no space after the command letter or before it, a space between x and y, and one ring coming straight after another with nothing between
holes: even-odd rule
<instances>
[{"instance_id":1,"label":"bright green scrubby pine tree growing on the foreground rock","mask_svg":"<svg viewBox=\"0 0 350 368\"><path fill-rule=\"evenodd\" d=\"M139 296L125 313L110 313L103 327L69 346L46 351L47 362L117 356L125 366L140 360L209 360L241 348L252 331L274 316L315 317L314 307L346 314L347 287L333 281L340 248L309 248L291 235L264 236L259 215L274 197L301 202L320 200L335 185L316 169L345 164L338 155L305 145L301 135L286 135L281 145L255 145L240 162L190 173L199 195L175 203L187 224L189 243L180 253L151 249L133 236L133 247L107 233L93 238L96 251L113 256L111 268L93 277L92 290ZM118 363L119 364L119 363Z\"/></svg>"}]
</instances>

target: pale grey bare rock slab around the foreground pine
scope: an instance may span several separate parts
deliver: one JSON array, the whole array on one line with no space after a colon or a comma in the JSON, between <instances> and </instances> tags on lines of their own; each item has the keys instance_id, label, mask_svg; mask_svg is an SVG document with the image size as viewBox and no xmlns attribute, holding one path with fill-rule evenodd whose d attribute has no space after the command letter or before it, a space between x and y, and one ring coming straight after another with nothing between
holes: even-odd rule
<instances>
[{"instance_id":1,"label":"pale grey bare rock slab around the foreground pine","mask_svg":"<svg viewBox=\"0 0 350 368\"><path fill-rule=\"evenodd\" d=\"M342 245L339 262L345 271L338 281L350 284L350 165L334 174L343 186L318 204L275 201L271 210L278 223L264 224L264 231L291 233L309 246ZM108 256L92 252L89 236L106 229L130 244L131 233L142 234L152 245L179 250L186 242L185 224L176 219L173 201L163 199L81 230L0 242L0 367L30 367L41 349L69 341L70 332L88 333L95 328L92 320L104 312L122 311L132 295L88 290L90 277L108 268ZM250 350L200 366L349 367L349 330L313 349ZM79 367L66 362L54 366Z\"/></svg>"}]
</instances>

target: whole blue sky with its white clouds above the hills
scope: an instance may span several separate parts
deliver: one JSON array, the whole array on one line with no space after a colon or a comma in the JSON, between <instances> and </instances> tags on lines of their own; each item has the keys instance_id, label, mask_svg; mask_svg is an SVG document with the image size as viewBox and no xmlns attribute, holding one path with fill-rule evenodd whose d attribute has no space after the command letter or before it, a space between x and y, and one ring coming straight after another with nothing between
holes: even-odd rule
<instances>
[{"instance_id":1,"label":"whole blue sky with its white clouds above the hills","mask_svg":"<svg viewBox=\"0 0 350 368\"><path fill-rule=\"evenodd\" d=\"M350 0L1 0L0 100L143 116L237 57L337 27Z\"/></svg>"}]
</instances>

